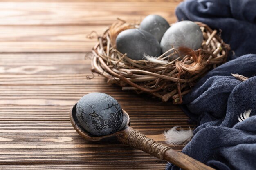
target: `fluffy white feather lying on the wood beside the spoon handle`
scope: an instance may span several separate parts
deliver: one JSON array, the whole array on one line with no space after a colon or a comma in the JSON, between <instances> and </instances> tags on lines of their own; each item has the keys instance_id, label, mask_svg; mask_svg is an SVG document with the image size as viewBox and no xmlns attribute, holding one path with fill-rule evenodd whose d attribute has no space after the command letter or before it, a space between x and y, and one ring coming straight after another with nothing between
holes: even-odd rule
<instances>
[{"instance_id":1,"label":"fluffy white feather lying on the wood beside the spoon handle","mask_svg":"<svg viewBox=\"0 0 256 170\"><path fill-rule=\"evenodd\" d=\"M165 141L167 144L182 144L187 143L193 137L193 130L179 130L177 131L178 126L174 126L167 132L164 132Z\"/></svg>"}]
</instances>

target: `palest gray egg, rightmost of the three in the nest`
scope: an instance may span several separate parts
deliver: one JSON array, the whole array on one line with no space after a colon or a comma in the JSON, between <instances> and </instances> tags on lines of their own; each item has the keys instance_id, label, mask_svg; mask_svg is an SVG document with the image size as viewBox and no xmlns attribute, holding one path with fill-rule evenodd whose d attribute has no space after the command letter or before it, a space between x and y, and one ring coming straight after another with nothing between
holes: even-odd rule
<instances>
[{"instance_id":1,"label":"palest gray egg, rightmost of the three in the nest","mask_svg":"<svg viewBox=\"0 0 256 170\"><path fill-rule=\"evenodd\" d=\"M165 33L160 46L162 53L173 46L187 47L193 50L199 49L202 45L203 33L200 27L192 21L180 21L173 24Z\"/></svg>"}]
</instances>

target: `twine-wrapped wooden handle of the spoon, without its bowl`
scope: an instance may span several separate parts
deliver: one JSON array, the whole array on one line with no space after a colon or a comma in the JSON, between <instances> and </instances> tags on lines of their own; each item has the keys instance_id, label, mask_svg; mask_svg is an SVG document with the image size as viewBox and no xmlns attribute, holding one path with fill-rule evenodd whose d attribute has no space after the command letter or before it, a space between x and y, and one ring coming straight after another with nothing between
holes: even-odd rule
<instances>
[{"instance_id":1,"label":"twine-wrapped wooden handle of the spoon, without its bowl","mask_svg":"<svg viewBox=\"0 0 256 170\"><path fill-rule=\"evenodd\" d=\"M146 137L144 134L138 130L134 130L130 126L126 126L123 133L119 134L117 138L123 144L142 150L159 159L169 161L183 170L215 170L188 155L177 152L164 144Z\"/></svg>"}]
</instances>

